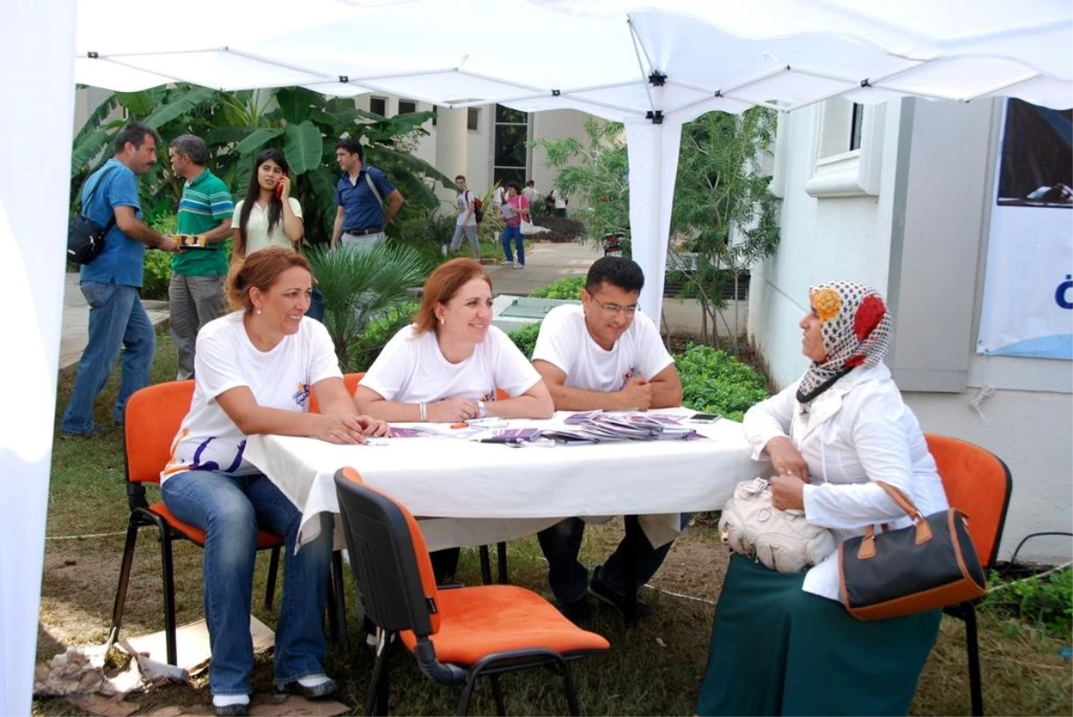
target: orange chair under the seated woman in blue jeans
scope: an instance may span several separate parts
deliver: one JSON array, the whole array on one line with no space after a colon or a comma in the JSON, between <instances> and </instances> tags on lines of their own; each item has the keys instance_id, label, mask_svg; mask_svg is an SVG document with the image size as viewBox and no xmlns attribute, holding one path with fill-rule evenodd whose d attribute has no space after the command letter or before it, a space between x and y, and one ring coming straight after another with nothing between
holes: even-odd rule
<instances>
[{"instance_id":1,"label":"orange chair under the seated woman in blue jeans","mask_svg":"<svg viewBox=\"0 0 1073 717\"><path fill-rule=\"evenodd\" d=\"M167 464L172 441L179 431L182 419L190 410L194 393L193 381L168 381L136 391L127 401L123 414L123 464L127 474L127 502L131 516L127 523L127 544L119 568L119 586L112 609L109 642L119 635L123 621L123 606L130 584L134 546L142 528L156 527L160 533L160 560L164 577L164 632L167 644L167 662L176 664L175 645L175 576L172 567L172 541L189 540L205 547L205 533L175 517L163 502L152 504L146 500L145 485L160 483L160 471ZM271 550L268 567L268 585L265 589L265 609L271 610L279 571L279 550L283 537L265 530L258 531L258 550Z\"/></svg>"}]
</instances>

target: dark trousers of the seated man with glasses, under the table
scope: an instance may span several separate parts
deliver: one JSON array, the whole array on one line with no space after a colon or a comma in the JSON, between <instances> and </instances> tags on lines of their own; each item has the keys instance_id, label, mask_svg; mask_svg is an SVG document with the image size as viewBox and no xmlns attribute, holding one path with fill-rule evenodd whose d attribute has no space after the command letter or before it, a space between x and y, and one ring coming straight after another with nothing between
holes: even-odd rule
<instances>
[{"instance_id":1,"label":"dark trousers of the seated man with glasses, under the table","mask_svg":"<svg viewBox=\"0 0 1073 717\"><path fill-rule=\"evenodd\" d=\"M692 513L682 513L681 527L689 523L690 517ZM634 523L637 521L634 515L627 515L626 520ZM633 591L636 592L656 574L674 541L652 547L641 526L634 527L641 532L640 544L634 554L637 561L637 584L633 586ZM589 572L577 561L584 533L585 521L579 517L568 517L536 533L544 557L547 558L547 582L559 606L583 599L588 589ZM626 561L629 552L623 539L600 569L600 582L620 598L626 596Z\"/></svg>"}]
</instances>

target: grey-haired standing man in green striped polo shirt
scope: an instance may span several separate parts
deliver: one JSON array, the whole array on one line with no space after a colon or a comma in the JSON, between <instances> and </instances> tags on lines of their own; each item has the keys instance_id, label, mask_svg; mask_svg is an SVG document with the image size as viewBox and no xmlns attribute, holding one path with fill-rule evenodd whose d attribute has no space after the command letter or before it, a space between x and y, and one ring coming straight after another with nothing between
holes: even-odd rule
<instances>
[{"instance_id":1,"label":"grey-haired standing man in green striped polo shirt","mask_svg":"<svg viewBox=\"0 0 1073 717\"><path fill-rule=\"evenodd\" d=\"M235 205L223 181L205 163L208 147L201 137L183 134L168 145L172 172L186 179L179 200L178 233L199 237L193 246L179 247L172 258L172 338L179 354L178 380L194 377L194 345L197 332L223 316L223 282L227 257L223 242L231 236Z\"/></svg>"}]
</instances>

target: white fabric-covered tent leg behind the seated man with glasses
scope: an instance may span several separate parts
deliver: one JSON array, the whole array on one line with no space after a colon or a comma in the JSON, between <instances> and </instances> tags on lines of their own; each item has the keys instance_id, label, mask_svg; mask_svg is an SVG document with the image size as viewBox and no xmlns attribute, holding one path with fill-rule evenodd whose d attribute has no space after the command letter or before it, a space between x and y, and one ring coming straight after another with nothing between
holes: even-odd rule
<instances>
[{"instance_id":1,"label":"white fabric-covered tent leg behind the seated man with glasses","mask_svg":"<svg viewBox=\"0 0 1073 717\"><path fill-rule=\"evenodd\" d=\"M633 260L645 273L641 310L659 328L681 122L664 119L663 125L653 125L650 119L628 119L626 145L630 156L630 243Z\"/></svg>"}]
</instances>

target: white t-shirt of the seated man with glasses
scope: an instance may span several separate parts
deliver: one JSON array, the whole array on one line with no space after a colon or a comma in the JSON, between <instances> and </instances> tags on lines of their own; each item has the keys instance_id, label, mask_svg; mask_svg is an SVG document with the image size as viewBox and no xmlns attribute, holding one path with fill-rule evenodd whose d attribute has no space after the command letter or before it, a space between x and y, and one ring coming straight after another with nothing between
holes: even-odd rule
<instances>
[{"instance_id":1,"label":"white t-shirt of the seated man with glasses","mask_svg":"<svg viewBox=\"0 0 1073 717\"><path fill-rule=\"evenodd\" d=\"M621 391L635 376L650 379L674 363L652 320L640 311L612 347L603 349L589 335L576 304L547 312L541 324L533 361L546 361L567 375L564 385L584 391Z\"/></svg>"}]
</instances>

